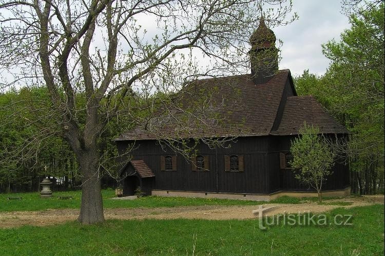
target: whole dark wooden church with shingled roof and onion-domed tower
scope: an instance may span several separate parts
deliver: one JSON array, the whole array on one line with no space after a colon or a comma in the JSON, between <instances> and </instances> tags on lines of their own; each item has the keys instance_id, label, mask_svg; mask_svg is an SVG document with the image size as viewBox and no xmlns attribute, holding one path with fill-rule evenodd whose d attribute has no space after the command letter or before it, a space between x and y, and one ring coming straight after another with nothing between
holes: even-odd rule
<instances>
[{"instance_id":1,"label":"whole dark wooden church with shingled roof and onion-domed tower","mask_svg":"<svg viewBox=\"0 0 385 256\"><path fill-rule=\"evenodd\" d=\"M122 159L124 195L132 195L140 187L147 195L161 196L253 200L316 196L311 187L300 184L288 164L291 140L304 122L318 126L327 136L345 137L348 131L315 98L297 96L290 70L278 70L275 41L274 32L261 19L250 38L251 74L198 80L187 86L189 93L180 92L186 107L202 89L211 92L214 104L209 111L217 119L205 115L204 126L190 122L182 131L165 114L151 125L138 125L115 139L120 152L133 142L136 145L130 158ZM159 138L201 142L186 159ZM232 139L209 147L202 142L204 138ZM348 166L336 162L323 185L323 195L349 195L349 186Z\"/></svg>"}]
</instances>

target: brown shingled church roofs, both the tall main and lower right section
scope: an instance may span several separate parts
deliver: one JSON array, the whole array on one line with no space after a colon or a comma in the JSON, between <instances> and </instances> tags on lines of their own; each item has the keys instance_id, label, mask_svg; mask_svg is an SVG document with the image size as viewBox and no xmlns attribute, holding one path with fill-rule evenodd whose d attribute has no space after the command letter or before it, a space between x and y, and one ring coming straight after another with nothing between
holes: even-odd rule
<instances>
[{"instance_id":1,"label":"brown shingled church roofs, both the tall main and lower right section","mask_svg":"<svg viewBox=\"0 0 385 256\"><path fill-rule=\"evenodd\" d=\"M322 133L349 133L312 96L288 97L280 124L272 131L288 79L290 70L284 69L262 84L255 84L250 74L197 80L179 93L182 109L191 108L202 89L210 94L211 107L187 116L188 111L163 113L114 140L294 135L304 121Z\"/></svg>"}]
</instances>

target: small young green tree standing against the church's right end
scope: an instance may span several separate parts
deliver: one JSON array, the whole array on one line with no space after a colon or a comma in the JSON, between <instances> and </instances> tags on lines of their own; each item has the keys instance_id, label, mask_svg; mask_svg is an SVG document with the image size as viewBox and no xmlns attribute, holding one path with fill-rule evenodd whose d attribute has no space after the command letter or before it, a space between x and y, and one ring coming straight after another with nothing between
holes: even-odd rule
<instances>
[{"instance_id":1,"label":"small young green tree standing against the church's right end","mask_svg":"<svg viewBox=\"0 0 385 256\"><path fill-rule=\"evenodd\" d=\"M290 151L293 160L290 163L294 169L299 170L295 177L315 188L321 202L322 184L333 173L335 154L318 127L304 123L300 134L301 136L292 140Z\"/></svg>"}]
</instances>

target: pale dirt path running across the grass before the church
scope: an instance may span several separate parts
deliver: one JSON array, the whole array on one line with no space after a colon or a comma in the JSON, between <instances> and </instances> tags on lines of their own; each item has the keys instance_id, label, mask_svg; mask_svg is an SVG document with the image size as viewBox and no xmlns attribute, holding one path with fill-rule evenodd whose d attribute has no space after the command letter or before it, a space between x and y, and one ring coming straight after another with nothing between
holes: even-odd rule
<instances>
[{"instance_id":1,"label":"pale dirt path running across the grass before the church","mask_svg":"<svg viewBox=\"0 0 385 256\"><path fill-rule=\"evenodd\" d=\"M318 205L317 203L304 202L303 204L266 204L264 207L277 206L265 215L278 213L298 212L325 212L338 207L356 207L372 204L384 204L383 195L351 197L325 201L351 202L349 206ZM108 219L142 220L145 218L174 219L174 218L201 218L205 220L243 220L255 218L252 211L258 206L185 206L162 208L117 208L105 209L104 216ZM46 226L74 221L79 215L78 209L48 209L44 211L16 211L0 212L0 228L18 227L23 225Z\"/></svg>"}]
</instances>

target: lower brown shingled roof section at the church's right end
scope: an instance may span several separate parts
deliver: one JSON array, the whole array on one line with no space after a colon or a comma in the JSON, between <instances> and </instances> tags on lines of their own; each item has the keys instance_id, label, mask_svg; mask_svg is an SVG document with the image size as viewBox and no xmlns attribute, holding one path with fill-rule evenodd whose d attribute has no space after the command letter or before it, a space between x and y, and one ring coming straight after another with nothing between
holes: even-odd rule
<instances>
[{"instance_id":1,"label":"lower brown shingled roof section at the church's right end","mask_svg":"<svg viewBox=\"0 0 385 256\"><path fill-rule=\"evenodd\" d=\"M303 127L303 123L317 126L321 133L349 133L338 123L313 96L287 97L282 119L277 131L272 135L295 135Z\"/></svg>"}]
</instances>

